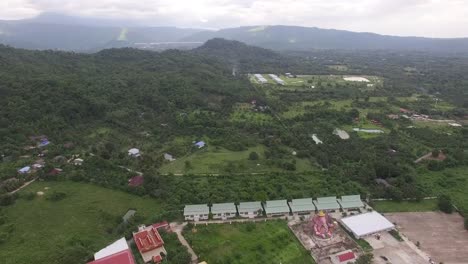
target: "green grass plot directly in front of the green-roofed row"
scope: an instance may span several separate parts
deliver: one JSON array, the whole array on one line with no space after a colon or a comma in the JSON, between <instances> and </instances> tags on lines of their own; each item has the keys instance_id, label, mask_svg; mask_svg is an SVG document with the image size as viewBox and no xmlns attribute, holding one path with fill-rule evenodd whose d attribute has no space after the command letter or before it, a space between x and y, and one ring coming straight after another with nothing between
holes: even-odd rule
<instances>
[{"instance_id":1,"label":"green grass plot directly in front of the green-roofed row","mask_svg":"<svg viewBox=\"0 0 468 264\"><path fill-rule=\"evenodd\" d=\"M200 225L185 237L208 263L314 263L284 221Z\"/></svg>"}]
</instances>

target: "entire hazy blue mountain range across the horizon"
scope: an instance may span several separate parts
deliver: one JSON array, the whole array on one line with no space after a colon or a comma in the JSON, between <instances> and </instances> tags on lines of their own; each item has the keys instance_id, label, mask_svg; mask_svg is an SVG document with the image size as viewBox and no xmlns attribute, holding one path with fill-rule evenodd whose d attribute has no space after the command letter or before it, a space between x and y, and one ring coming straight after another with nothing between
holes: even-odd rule
<instances>
[{"instance_id":1,"label":"entire hazy blue mountain range across the horizon","mask_svg":"<svg viewBox=\"0 0 468 264\"><path fill-rule=\"evenodd\" d=\"M468 38L397 37L299 26L248 26L220 30L148 27L133 21L85 19L59 14L0 21L0 43L27 49L95 52L114 47L188 49L212 38L273 50L397 50L468 53Z\"/></svg>"}]
</instances>

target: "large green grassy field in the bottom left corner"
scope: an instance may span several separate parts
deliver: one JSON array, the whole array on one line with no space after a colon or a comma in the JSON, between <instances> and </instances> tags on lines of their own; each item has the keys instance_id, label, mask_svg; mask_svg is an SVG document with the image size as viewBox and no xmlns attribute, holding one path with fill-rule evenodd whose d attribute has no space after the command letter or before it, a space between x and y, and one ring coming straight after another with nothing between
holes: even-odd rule
<instances>
[{"instance_id":1,"label":"large green grassy field in the bottom left corner","mask_svg":"<svg viewBox=\"0 0 468 264\"><path fill-rule=\"evenodd\" d=\"M49 187L48 190L44 189ZM141 198L121 191L74 182L35 182L21 191L45 193L33 200L20 198L2 212L13 225L6 241L0 244L3 264L79 263L87 255L118 238L117 221L129 208L148 221L161 210L154 199ZM46 200L52 191L66 193L60 201ZM11 222L10 222L11 221ZM83 250L82 250L83 249ZM73 258L72 262L65 259Z\"/></svg>"}]
</instances>

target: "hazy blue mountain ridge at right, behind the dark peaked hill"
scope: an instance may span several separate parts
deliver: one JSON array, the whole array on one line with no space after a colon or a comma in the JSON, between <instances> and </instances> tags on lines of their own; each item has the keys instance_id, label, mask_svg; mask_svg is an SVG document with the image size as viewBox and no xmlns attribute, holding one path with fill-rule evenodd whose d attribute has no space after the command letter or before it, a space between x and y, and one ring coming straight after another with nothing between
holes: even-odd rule
<instances>
[{"instance_id":1,"label":"hazy blue mountain ridge at right, behind the dark peaked hill","mask_svg":"<svg viewBox=\"0 0 468 264\"><path fill-rule=\"evenodd\" d=\"M397 37L374 33L298 26L250 26L202 31L185 41L225 38L275 50L418 50L427 52L468 52L468 38L436 39Z\"/></svg>"}]
</instances>

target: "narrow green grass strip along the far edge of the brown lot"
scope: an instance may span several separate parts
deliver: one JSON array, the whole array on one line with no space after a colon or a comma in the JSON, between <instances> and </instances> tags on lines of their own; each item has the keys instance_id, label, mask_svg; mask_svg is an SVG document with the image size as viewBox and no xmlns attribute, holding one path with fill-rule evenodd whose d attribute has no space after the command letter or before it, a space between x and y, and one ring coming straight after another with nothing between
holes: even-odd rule
<instances>
[{"instance_id":1,"label":"narrow green grass strip along the far edge of the brown lot","mask_svg":"<svg viewBox=\"0 0 468 264\"><path fill-rule=\"evenodd\" d=\"M428 212L437 210L437 199L414 201L374 201L373 208L380 213L390 212Z\"/></svg>"}]
</instances>

